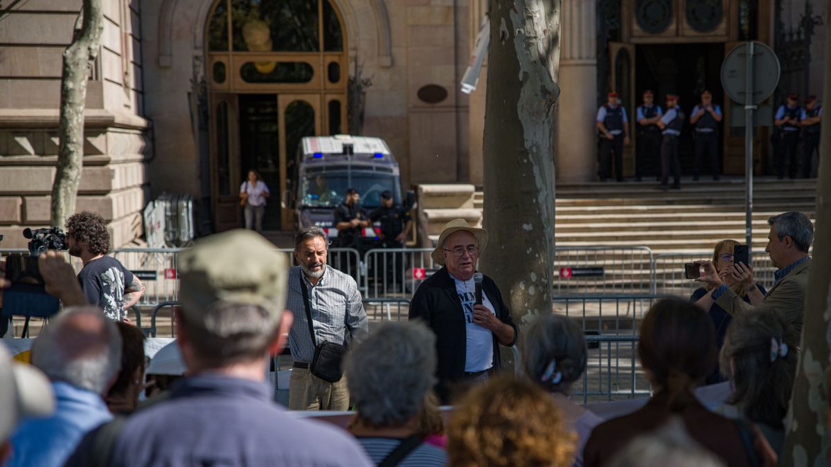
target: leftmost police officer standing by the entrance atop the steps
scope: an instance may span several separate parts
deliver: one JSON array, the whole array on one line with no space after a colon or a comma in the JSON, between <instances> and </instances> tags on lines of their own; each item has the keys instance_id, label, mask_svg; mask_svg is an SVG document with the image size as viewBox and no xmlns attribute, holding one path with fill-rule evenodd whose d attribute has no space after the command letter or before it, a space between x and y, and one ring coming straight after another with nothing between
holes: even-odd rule
<instances>
[{"instance_id":1,"label":"leftmost police officer standing by the entrance atop the steps","mask_svg":"<svg viewBox=\"0 0 831 467\"><path fill-rule=\"evenodd\" d=\"M623 181L623 145L629 144L629 119L617 101L617 92L610 92L608 102L597 110L600 130L600 181L605 182L612 171L611 153L615 154L615 178Z\"/></svg>"}]
</instances>

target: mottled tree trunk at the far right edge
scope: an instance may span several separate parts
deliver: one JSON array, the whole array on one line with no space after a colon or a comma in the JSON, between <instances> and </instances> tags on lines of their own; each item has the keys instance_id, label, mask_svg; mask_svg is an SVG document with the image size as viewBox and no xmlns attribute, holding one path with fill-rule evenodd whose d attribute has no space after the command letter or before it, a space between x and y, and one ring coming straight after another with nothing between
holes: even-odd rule
<instances>
[{"instance_id":1,"label":"mottled tree trunk at the far right edge","mask_svg":"<svg viewBox=\"0 0 831 467\"><path fill-rule=\"evenodd\" d=\"M829 2L831 5L831 2ZM825 82L822 94L831 96L831 35L826 38ZM780 465L829 465L829 391L831 391L831 116L822 120L819 143L817 210L814 253L808 277L802 351L791 396L787 438Z\"/></svg>"}]
</instances>

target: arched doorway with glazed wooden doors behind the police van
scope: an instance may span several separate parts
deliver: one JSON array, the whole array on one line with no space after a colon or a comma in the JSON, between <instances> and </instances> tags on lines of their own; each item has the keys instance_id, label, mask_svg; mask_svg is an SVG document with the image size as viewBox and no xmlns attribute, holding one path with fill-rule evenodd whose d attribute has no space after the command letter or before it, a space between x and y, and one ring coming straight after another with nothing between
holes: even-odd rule
<instances>
[{"instance_id":1,"label":"arched doorway with glazed wooden doors behind the police van","mask_svg":"<svg viewBox=\"0 0 831 467\"><path fill-rule=\"evenodd\" d=\"M205 28L214 228L241 225L248 170L268 184L263 229L293 229L286 197L303 136L347 132L347 37L329 0L218 0Z\"/></svg>"}]
</instances>

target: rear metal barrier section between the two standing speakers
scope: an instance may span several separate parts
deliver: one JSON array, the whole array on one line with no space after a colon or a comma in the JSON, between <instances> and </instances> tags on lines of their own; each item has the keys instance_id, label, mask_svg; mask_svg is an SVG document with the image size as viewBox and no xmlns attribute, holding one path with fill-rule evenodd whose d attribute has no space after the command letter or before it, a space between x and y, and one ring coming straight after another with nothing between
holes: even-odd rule
<instances>
[{"instance_id":1,"label":"rear metal barrier section between the two standing speakers","mask_svg":"<svg viewBox=\"0 0 831 467\"><path fill-rule=\"evenodd\" d=\"M364 255L364 297L411 297L440 268L433 248L375 248Z\"/></svg>"}]
</instances>

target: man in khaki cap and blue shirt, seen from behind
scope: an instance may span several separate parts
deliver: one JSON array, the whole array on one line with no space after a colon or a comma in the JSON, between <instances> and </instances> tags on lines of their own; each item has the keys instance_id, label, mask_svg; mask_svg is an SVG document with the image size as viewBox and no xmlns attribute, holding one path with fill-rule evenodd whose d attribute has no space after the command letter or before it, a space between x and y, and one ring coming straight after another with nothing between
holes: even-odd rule
<instances>
[{"instance_id":1,"label":"man in khaki cap and blue shirt, seen from behind","mask_svg":"<svg viewBox=\"0 0 831 467\"><path fill-rule=\"evenodd\" d=\"M284 311L286 256L238 229L200 240L178 264L176 334L187 376L126 419L105 465L371 465L342 430L273 402L269 356L282 350L293 319ZM66 465L91 465L101 433L110 434L87 436Z\"/></svg>"}]
</instances>

